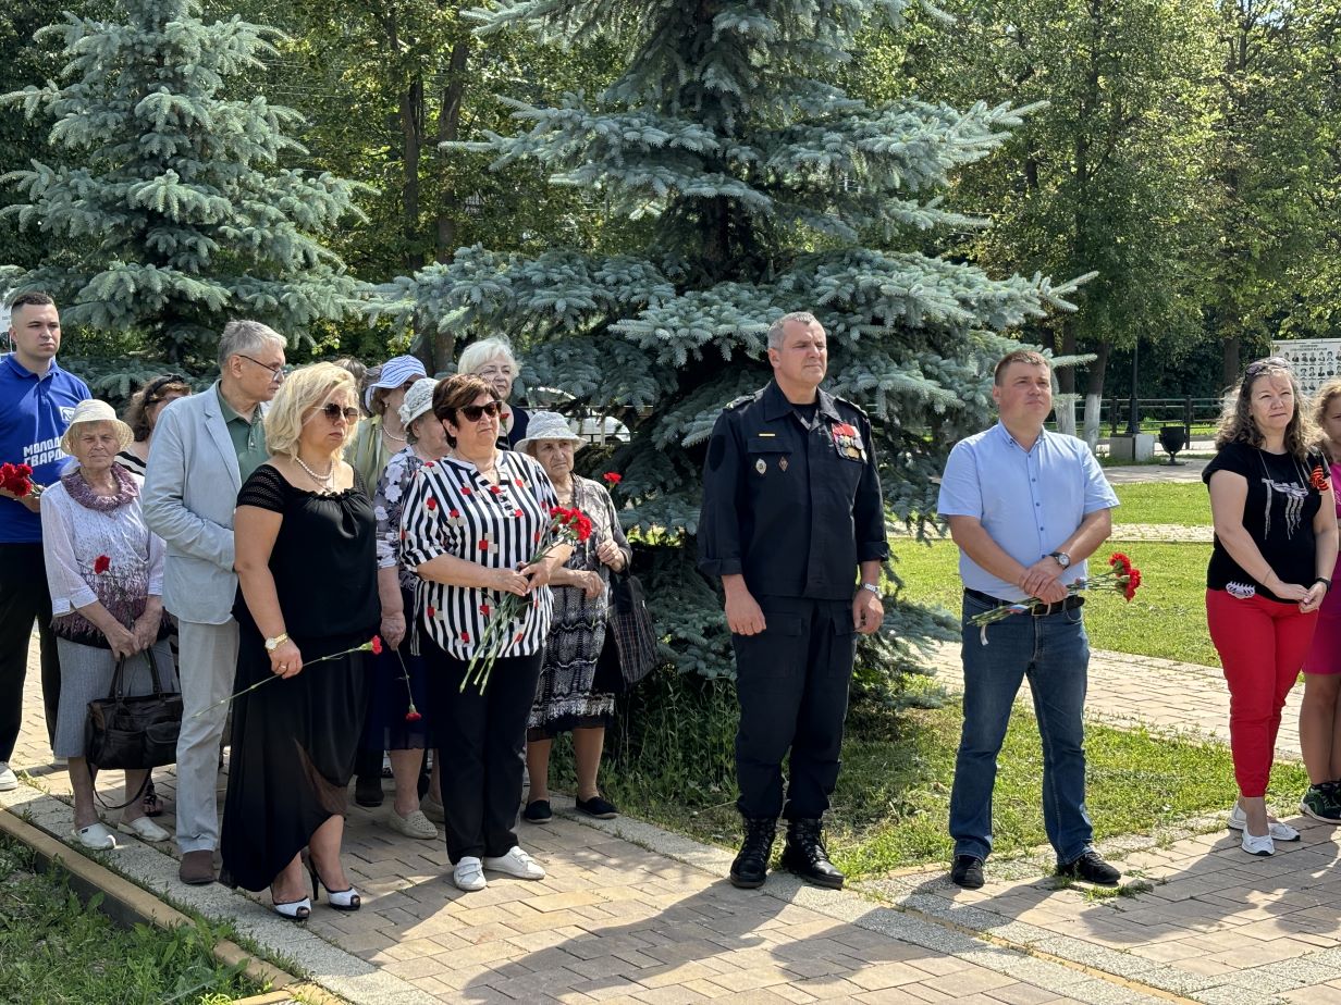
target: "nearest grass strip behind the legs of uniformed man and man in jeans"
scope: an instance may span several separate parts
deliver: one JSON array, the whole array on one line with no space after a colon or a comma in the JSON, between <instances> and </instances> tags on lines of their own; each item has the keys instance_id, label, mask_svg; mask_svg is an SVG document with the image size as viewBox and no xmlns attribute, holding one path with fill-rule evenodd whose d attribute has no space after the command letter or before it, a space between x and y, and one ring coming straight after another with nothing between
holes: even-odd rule
<instances>
[{"instance_id":1,"label":"nearest grass strip behind the legs of uniformed man and man in jeans","mask_svg":"<svg viewBox=\"0 0 1341 1005\"><path fill-rule=\"evenodd\" d=\"M949 862L949 787L961 722L959 702L898 713L854 709L842 773L826 824L834 862L853 876ZM1228 808L1238 789L1228 748L1104 725L1086 728L1086 803L1096 836L1155 833L1189 816ZM1018 706L1000 754L994 799L995 854L1046 846L1039 797L1042 754L1033 713ZM618 789L617 769L606 788ZM610 784L614 783L614 784ZM1291 807L1307 787L1299 765L1277 765L1269 800ZM730 793L724 793L730 795ZM618 792L626 812L731 847L739 816L730 801L687 812ZM780 846L779 846L780 847Z\"/></svg>"}]
</instances>

